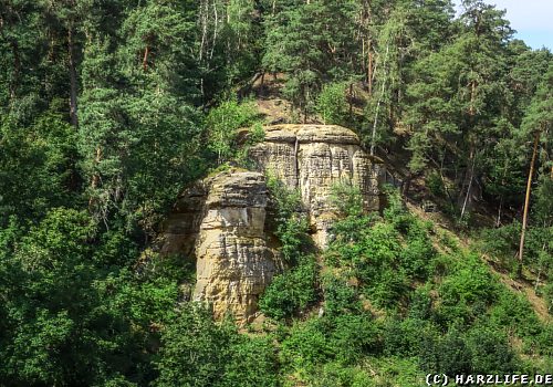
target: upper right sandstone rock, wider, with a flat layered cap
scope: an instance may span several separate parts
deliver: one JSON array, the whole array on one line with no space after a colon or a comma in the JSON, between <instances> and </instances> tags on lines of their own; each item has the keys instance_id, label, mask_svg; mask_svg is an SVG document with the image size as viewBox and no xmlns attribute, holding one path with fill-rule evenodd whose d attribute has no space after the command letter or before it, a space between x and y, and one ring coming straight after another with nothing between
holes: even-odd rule
<instances>
[{"instance_id":1,"label":"upper right sandstone rock, wider, with a flat layered cap","mask_svg":"<svg viewBox=\"0 0 553 387\"><path fill-rule=\"evenodd\" d=\"M336 125L276 125L265 133L251 156L260 171L300 190L320 248L326 247L335 220L331 195L336 184L357 186L365 209L379 209L382 167L361 148L352 130Z\"/></svg>"}]
</instances>

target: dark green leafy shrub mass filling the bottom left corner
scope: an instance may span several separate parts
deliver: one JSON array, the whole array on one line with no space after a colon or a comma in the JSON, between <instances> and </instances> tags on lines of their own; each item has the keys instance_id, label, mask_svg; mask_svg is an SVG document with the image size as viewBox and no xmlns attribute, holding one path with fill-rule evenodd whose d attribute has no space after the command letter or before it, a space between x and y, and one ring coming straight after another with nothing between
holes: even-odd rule
<instances>
[{"instance_id":1,"label":"dark green leafy shrub mass filling the bottom left corner","mask_svg":"<svg viewBox=\"0 0 553 387\"><path fill-rule=\"evenodd\" d=\"M88 213L55 208L2 257L9 300L0 308L2 380L92 385L133 367L137 352L126 311L105 301L105 284L118 273L92 259L95 236ZM121 356L126 351L132 355Z\"/></svg>"}]
</instances>

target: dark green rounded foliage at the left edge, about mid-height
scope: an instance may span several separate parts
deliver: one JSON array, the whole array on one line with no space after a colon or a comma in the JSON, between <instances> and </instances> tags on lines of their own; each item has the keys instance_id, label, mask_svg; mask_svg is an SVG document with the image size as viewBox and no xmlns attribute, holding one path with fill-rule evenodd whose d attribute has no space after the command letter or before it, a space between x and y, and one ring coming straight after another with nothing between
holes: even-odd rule
<instances>
[{"instance_id":1,"label":"dark green rounded foliage at the left edge, about mid-height","mask_svg":"<svg viewBox=\"0 0 553 387\"><path fill-rule=\"evenodd\" d=\"M0 227L10 215L38 221L76 202L76 150L75 130L60 114L44 113L28 127L0 114Z\"/></svg>"}]
</instances>

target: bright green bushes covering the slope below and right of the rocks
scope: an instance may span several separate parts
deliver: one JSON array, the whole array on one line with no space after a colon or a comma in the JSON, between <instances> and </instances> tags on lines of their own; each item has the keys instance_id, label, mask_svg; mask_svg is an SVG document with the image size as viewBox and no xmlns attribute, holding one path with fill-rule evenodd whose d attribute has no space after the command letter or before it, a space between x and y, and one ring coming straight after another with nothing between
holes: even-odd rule
<instances>
[{"instance_id":1,"label":"bright green bushes covering the slope below and right of the rocks","mask_svg":"<svg viewBox=\"0 0 553 387\"><path fill-rule=\"evenodd\" d=\"M417 386L426 373L546 369L549 355L541 366L521 355L547 353L551 325L473 252L436 251L434 226L410 215L397 196L383 218L359 215L355 198L344 201L353 206L325 253L323 313L296 313L278 335L284 370L313 385L385 385L368 377L376 367L395 383ZM359 221L368 226L352 233ZM512 339L523 343L522 352Z\"/></svg>"}]
</instances>

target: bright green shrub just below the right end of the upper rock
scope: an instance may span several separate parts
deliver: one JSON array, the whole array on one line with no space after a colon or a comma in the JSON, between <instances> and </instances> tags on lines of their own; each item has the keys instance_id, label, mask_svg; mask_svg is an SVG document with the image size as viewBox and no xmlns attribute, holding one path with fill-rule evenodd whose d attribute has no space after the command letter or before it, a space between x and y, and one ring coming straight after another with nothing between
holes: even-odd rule
<instances>
[{"instance_id":1,"label":"bright green shrub just below the right end of the upper rock","mask_svg":"<svg viewBox=\"0 0 553 387\"><path fill-rule=\"evenodd\" d=\"M426 280L434 270L437 253L428 236L431 224L408 213L395 191L390 191L384 219L364 215L361 195L352 187L335 187L334 197L345 218L333 227L326 261L351 268L362 292L377 306L393 307L405 301L413 281Z\"/></svg>"}]
</instances>

